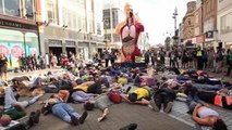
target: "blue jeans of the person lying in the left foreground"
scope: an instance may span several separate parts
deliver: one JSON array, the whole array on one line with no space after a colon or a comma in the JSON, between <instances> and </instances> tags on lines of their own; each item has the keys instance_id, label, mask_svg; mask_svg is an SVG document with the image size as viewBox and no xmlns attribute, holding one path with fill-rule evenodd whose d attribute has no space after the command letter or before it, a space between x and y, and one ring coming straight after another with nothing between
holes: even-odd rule
<instances>
[{"instance_id":1,"label":"blue jeans of the person lying in the left foreground","mask_svg":"<svg viewBox=\"0 0 232 130\"><path fill-rule=\"evenodd\" d=\"M75 112L75 109L66 103L58 103L52 106L52 114L63 121L71 122L71 116L80 118L81 115Z\"/></svg>"}]
</instances>

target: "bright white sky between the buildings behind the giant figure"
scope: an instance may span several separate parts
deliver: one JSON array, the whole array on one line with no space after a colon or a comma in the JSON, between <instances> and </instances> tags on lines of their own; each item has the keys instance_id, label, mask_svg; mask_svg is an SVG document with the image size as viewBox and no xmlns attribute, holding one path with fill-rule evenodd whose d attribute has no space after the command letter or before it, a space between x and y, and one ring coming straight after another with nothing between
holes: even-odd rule
<instances>
[{"instance_id":1,"label":"bright white sky between the buildings behind the giant figure","mask_svg":"<svg viewBox=\"0 0 232 130\"><path fill-rule=\"evenodd\" d=\"M149 35L151 46L163 43L167 36L174 32L172 14L178 8L178 26L186 13L186 3L193 0L105 0L105 2L130 2ZM167 34L168 32L168 34Z\"/></svg>"}]
</instances>

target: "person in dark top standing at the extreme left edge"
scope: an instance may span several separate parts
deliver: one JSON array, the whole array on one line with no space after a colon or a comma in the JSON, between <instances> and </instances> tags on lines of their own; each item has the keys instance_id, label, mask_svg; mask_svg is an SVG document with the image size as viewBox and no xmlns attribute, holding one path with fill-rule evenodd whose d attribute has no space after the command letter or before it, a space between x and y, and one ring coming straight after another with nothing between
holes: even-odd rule
<instances>
[{"instance_id":1,"label":"person in dark top standing at the extreme left edge","mask_svg":"<svg viewBox=\"0 0 232 130\"><path fill-rule=\"evenodd\" d=\"M1 81L4 75L4 80L7 81L7 73L8 73L8 57L4 54L0 54L0 75Z\"/></svg>"}]
</instances>

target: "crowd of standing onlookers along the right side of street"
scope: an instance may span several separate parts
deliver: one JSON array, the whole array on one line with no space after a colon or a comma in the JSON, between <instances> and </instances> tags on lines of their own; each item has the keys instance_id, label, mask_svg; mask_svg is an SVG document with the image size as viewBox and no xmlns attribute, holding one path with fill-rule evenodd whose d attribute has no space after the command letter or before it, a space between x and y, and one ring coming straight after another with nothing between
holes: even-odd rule
<instances>
[{"instance_id":1,"label":"crowd of standing onlookers along the right side of street","mask_svg":"<svg viewBox=\"0 0 232 130\"><path fill-rule=\"evenodd\" d=\"M170 51L150 49L144 53L145 62L155 66L162 63L164 57L169 57L169 66L183 69L195 68L202 70L210 70L211 73L231 76L232 69L232 51L228 49L217 48L191 48L178 49L173 47Z\"/></svg>"}]
</instances>

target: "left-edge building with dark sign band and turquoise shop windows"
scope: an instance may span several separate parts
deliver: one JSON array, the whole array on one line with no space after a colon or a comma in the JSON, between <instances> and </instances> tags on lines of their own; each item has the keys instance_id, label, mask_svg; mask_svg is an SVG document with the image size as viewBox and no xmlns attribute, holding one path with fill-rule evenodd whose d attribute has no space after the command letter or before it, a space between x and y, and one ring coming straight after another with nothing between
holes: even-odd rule
<instances>
[{"instance_id":1,"label":"left-edge building with dark sign band and turquoise shop windows","mask_svg":"<svg viewBox=\"0 0 232 130\"><path fill-rule=\"evenodd\" d=\"M19 67L22 54L39 54L37 1L0 0L0 53L7 55L9 68Z\"/></svg>"}]
</instances>

